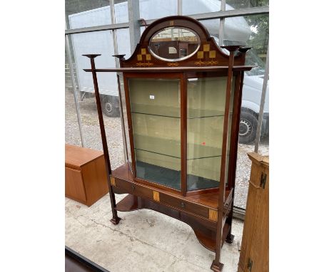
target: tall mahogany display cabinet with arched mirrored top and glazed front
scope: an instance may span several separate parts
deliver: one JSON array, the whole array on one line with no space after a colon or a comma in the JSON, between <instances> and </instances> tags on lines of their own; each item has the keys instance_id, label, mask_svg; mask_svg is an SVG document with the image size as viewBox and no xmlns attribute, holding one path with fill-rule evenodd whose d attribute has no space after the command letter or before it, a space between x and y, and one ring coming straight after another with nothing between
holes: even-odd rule
<instances>
[{"instance_id":1,"label":"tall mahogany display cabinet with arched mirrored top and glazed front","mask_svg":"<svg viewBox=\"0 0 334 272\"><path fill-rule=\"evenodd\" d=\"M117 211L153 209L191 226L214 251L233 242L232 207L245 65L242 46L220 48L187 16L159 19L143 31L120 68L90 58L106 160L113 224ZM96 73L117 73L126 162L111 171ZM128 194L116 204L114 194Z\"/></svg>"}]
</instances>

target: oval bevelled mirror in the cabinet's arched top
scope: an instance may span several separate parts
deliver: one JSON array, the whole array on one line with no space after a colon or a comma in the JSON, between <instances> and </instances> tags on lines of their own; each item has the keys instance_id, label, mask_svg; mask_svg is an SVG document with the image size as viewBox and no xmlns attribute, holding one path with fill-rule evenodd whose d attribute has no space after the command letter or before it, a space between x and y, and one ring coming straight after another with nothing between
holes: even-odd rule
<instances>
[{"instance_id":1,"label":"oval bevelled mirror in the cabinet's arched top","mask_svg":"<svg viewBox=\"0 0 334 272\"><path fill-rule=\"evenodd\" d=\"M200 45L197 33L188 28L171 26L156 32L148 48L153 56L163 61L183 61L193 56Z\"/></svg>"}]
</instances>

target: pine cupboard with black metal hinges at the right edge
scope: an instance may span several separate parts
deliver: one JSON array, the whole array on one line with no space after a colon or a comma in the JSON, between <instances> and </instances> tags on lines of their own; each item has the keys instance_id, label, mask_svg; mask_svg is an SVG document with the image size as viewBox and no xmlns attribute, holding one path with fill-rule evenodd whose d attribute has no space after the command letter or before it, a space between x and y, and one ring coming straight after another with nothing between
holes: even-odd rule
<instances>
[{"instance_id":1,"label":"pine cupboard with black metal hinges at the right edge","mask_svg":"<svg viewBox=\"0 0 334 272\"><path fill-rule=\"evenodd\" d=\"M238 272L269 271L269 157L249 153L252 161Z\"/></svg>"}]
</instances>

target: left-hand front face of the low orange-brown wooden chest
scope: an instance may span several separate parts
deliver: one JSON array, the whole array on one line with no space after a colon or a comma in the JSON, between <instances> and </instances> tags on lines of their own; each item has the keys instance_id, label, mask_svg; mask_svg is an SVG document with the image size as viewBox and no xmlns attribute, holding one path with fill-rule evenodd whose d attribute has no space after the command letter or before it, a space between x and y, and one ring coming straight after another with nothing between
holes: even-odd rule
<instances>
[{"instance_id":1,"label":"left-hand front face of the low orange-brown wooden chest","mask_svg":"<svg viewBox=\"0 0 334 272\"><path fill-rule=\"evenodd\" d=\"M74 200L86 202L81 171L65 167L65 195Z\"/></svg>"}]
</instances>

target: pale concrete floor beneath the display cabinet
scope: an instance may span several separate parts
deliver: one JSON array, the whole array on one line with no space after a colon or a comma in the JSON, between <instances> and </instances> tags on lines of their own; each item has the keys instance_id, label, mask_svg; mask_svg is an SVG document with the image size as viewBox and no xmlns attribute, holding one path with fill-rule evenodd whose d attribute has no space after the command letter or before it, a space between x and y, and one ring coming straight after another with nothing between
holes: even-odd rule
<instances>
[{"instance_id":1,"label":"pale concrete floor beneath the display cabinet","mask_svg":"<svg viewBox=\"0 0 334 272\"><path fill-rule=\"evenodd\" d=\"M116 194L116 202L126 195ZM118 212L113 225L108 194L87 207L65 202L65 243L108 271L211 271L214 253L196 239L190 226L156 211ZM243 222L234 220L233 244L224 244L223 272L236 272Z\"/></svg>"}]
</instances>

